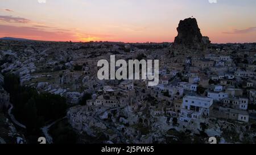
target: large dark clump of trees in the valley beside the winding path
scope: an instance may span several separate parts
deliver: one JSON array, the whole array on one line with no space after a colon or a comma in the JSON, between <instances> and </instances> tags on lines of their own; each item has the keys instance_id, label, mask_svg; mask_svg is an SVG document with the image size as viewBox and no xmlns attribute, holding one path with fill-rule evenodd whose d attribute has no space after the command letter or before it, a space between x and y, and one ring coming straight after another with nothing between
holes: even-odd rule
<instances>
[{"instance_id":1,"label":"large dark clump of trees in the valley beside the winding path","mask_svg":"<svg viewBox=\"0 0 256 155\"><path fill-rule=\"evenodd\" d=\"M15 118L26 125L31 141L40 136L40 128L46 122L66 115L67 103L64 97L50 93L38 94L35 88L20 86L19 78L14 74L5 75L4 88L10 93Z\"/></svg>"}]
</instances>

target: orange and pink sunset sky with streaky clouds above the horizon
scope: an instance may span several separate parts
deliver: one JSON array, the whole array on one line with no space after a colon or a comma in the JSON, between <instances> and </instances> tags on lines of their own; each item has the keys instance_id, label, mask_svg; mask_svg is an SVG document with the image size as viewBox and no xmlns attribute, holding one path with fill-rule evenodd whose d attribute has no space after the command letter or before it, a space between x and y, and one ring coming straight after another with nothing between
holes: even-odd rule
<instances>
[{"instance_id":1,"label":"orange and pink sunset sky with streaky clouds above the horizon","mask_svg":"<svg viewBox=\"0 0 256 155\"><path fill-rule=\"evenodd\" d=\"M193 16L212 43L252 43L255 8L255 0L0 0L0 37L172 42Z\"/></svg>"}]
</instances>

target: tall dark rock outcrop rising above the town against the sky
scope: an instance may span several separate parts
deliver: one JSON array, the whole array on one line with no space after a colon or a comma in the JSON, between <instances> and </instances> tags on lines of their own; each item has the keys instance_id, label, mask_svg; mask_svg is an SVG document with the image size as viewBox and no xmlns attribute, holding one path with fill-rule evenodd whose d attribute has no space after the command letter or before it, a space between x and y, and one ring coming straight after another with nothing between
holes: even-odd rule
<instances>
[{"instance_id":1,"label":"tall dark rock outcrop rising above the town against the sky","mask_svg":"<svg viewBox=\"0 0 256 155\"><path fill-rule=\"evenodd\" d=\"M175 48L205 49L210 44L209 37L202 36L195 18L180 20L177 32L178 35L174 41Z\"/></svg>"}]
</instances>

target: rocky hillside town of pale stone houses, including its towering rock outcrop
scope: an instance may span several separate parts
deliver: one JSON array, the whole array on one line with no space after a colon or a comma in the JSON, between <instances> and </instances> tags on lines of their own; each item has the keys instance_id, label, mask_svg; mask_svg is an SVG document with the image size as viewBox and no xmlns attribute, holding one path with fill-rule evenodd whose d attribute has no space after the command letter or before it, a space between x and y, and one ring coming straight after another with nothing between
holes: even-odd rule
<instances>
[{"instance_id":1,"label":"rocky hillside town of pale stone houses, including its towering rock outcrop","mask_svg":"<svg viewBox=\"0 0 256 155\"><path fill-rule=\"evenodd\" d=\"M12 73L22 86L67 100L64 119L77 143L255 143L256 43L212 44L195 18L181 20L177 32L174 43L0 40L0 111L10 108L3 83ZM159 60L159 84L98 79L97 62L112 55Z\"/></svg>"}]
</instances>

